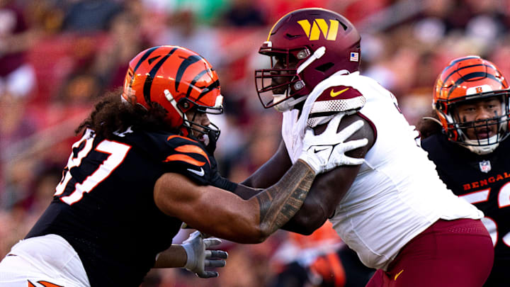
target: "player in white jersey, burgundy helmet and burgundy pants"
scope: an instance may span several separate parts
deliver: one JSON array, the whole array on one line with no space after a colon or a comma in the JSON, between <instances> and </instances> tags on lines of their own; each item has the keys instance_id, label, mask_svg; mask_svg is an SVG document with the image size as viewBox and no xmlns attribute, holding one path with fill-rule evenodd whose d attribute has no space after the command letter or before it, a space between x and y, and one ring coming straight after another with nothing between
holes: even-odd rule
<instances>
[{"instance_id":1,"label":"player in white jersey, burgundy helmet and burgundy pants","mask_svg":"<svg viewBox=\"0 0 510 287\"><path fill-rule=\"evenodd\" d=\"M363 264L378 269L370 287L482 286L494 257L483 213L439 179L395 96L359 74L356 28L333 11L292 11L259 53L271 57L271 67L256 70L257 92L264 107L283 112L283 142L244 184L275 182L297 160L302 130L318 135L334 116L343 116L339 130L363 120L352 138L369 140L347 153L365 162L318 176L283 228L310 234L329 219Z\"/></svg>"}]
</instances>

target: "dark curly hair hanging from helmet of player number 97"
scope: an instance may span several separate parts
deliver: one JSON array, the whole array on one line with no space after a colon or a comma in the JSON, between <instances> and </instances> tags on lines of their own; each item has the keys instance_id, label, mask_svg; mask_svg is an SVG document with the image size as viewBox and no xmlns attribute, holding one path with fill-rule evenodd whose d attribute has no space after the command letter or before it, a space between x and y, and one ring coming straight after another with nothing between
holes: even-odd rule
<instances>
[{"instance_id":1,"label":"dark curly hair hanging from helmet of player number 97","mask_svg":"<svg viewBox=\"0 0 510 287\"><path fill-rule=\"evenodd\" d=\"M94 106L94 111L74 131L81 133L84 128L91 128L96 134L111 139L113 132L124 131L130 126L144 130L174 130L165 123L166 110L154 106L150 111L142 106L132 106L122 101L122 89L108 92Z\"/></svg>"}]
</instances>

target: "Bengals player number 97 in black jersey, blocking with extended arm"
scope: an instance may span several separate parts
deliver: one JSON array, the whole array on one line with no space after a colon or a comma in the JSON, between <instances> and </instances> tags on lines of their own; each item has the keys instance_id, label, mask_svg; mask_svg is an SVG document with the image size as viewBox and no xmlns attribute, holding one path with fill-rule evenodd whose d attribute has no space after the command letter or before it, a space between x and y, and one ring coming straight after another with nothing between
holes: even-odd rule
<instances>
[{"instance_id":1,"label":"Bengals player number 97 in black jersey, blocking with extended arm","mask_svg":"<svg viewBox=\"0 0 510 287\"><path fill-rule=\"evenodd\" d=\"M83 136L52 203L1 261L0 286L139 286L154 266L215 276L204 267L222 261L205 248L217 241L194 234L171 248L183 222L227 240L262 242L299 210L316 174L366 145L344 142L363 123L347 133L329 129L329 147L315 149L312 139L327 140L307 133L300 160L244 200L230 191L250 188L218 174L212 152L220 130L208 113L222 113L222 96L207 60L177 46L140 52L122 96L100 101L77 129Z\"/></svg>"}]
</instances>

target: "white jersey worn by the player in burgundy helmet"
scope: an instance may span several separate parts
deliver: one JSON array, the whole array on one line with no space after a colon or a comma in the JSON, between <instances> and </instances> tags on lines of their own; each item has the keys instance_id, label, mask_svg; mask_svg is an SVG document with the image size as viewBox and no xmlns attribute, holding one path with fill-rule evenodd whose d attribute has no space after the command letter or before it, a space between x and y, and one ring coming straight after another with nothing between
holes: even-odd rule
<instances>
[{"instance_id":1,"label":"white jersey worn by the player in burgundy helmet","mask_svg":"<svg viewBox=\"0 0 510 287\"><path fill-rule=\"evenodd\" d=\"M373 79L358 72L336 73L310 93L302 114L313 111L315 99L336 86L355 89L365 98L359 113L375 132L365 163L330 219L363 264L386 270L399 249L440 218L483 217L482 211L446 188L433 162L416 145L418 133L400 113L395 96ZM299 157L300 130L306 123L295 110L284 113L282 135L293 162Z\"/></svg>"}]
</instances>

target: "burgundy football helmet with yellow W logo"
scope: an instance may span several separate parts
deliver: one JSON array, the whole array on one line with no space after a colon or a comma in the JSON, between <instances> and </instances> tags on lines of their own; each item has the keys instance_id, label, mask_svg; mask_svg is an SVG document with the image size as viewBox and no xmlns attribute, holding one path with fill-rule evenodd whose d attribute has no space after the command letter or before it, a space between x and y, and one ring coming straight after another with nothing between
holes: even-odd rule
<instances>
[{"instance_id":1,"label":"burgundy football helmet with yellow W logo","mask_svg":"<svg viewBox=\"0 0 510 287\"><path fill-rule=\"evenodd\" d=\"M360 40L351 22L327 9L299 9L280 18L259 50L271 57L271 68L255 71L264 108L288 110L335 72L358 71Z\"/></svg>"}]
</instances>

